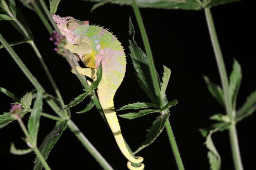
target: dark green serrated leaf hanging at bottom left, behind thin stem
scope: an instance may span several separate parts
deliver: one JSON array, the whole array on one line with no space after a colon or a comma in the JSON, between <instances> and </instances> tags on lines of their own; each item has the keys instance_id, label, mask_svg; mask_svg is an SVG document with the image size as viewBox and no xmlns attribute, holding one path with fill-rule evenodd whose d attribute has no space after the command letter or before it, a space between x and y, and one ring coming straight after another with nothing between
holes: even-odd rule
<instances>
[{"instance_id":1,"label":"dark green serrated leaf hanging at bottom left, behind thin stem","mask_svg":"<svg viewBox=\"0 0 256 170\"><path fill-rule=\"evenodd\" d=\"M60 136L62 135L66 127L67 127L67 120L64 120L62 122L57 122L54 129L43 140L42 144L39 147L39 151L45 160L47 159L49 153L51 152L54 145L59 140ZM42 170L42 168L43 166L37 157L33 170Z\"/></svg>"}]
</instances>

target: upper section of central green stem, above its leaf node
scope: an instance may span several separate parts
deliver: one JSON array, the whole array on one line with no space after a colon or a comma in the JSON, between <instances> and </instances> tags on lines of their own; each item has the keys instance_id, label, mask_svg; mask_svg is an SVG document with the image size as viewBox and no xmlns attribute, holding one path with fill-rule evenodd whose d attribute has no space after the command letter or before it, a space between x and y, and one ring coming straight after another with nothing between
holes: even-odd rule
<instances>
[{"instance_id":1,"label":"upper section of central green stem, above its leaf node","mask_svg":"<svg viewBox=\"0 0 256 170\"><path fill-rule=\"evenodd\" d=\"M155 65L154 65L154 60L153 60L151 48L150 48L148 38L147 38L147 35L146 35L146 29L145 29L145 26L143 24L142 17L140 15L139 8L137 6L136 0L132 0L132 2L133 2L132 7L133 7L133 10L134 10L136 19L137 19L140 34L142 36L144 46L145 46L145 50L146 50L146 55L147 55L147 58L148 58L148 61L149 61L149 69L150 69L150 73L151 73L151 76L152 76L152 81L153 81L153 85L154 85L154 89L155 89L155 95L156 95L156 99L157 99L156 101L158 102L158 107L163 108L163 100L162 100L161 93L160 93L159 82L158 82L158 79L157 79L157 73L156 73L156 70L155 70Z\"/></svg>"}]
</instances>

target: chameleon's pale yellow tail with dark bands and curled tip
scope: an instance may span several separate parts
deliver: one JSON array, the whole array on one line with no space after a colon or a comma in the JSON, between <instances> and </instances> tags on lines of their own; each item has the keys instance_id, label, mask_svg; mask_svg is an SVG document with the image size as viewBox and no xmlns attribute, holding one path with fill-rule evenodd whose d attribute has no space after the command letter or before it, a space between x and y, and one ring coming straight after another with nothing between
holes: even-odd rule
<instances>
[{"instance_id":1,"label":"chameleon's pale yellow tail with dark bands and curled tip","mask_svg":"<svg viewBox=\"0 0 256 170\"><path fill-rule=\"evenodd\" d=\"M120 129L120 126L119 126L119 122L118 122L118 119L117 119L117 115L116 115L116 112L114 111L114 108L112 107L111 109L104 109L104 114L106 116L106 119L110 125L110 128L113 132L113 135L116 139L116 142L119 146L119 149L121 150L121 152L123 153L123 155L129 160L128 163L127 163L127 167L129 170L143 170L145 165L143 163L141 163L143 161L143 158L138 156L136 158L134 158L131 153L129 153L127 147L126 147L126 144L125 144L125 141L124 141L124 138L122 136L122 133L121 133L121 129ZM134 167L132 166L131 163L139 163L140 166L139 167Z\"/></svg>"}]
</instances>

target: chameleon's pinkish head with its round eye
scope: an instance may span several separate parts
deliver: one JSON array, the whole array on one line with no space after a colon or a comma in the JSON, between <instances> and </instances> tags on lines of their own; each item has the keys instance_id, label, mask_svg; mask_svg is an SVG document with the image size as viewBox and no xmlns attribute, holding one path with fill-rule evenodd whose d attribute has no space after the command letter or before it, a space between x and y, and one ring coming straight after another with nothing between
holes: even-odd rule
<instances>
[{"instance_id":1,"label":"chameleon's pinkish head with its round eye","mask_svg":"<svg viewBox=\"0 0 256 170\"><path fill-rule=\"evenodd\" d=\"M60 29L61 33L66 37L68 42L72 42L75 37L77 37L77 31L81 30L85 32L89 28L89 21L79 21L73 17L60 17L57 15L52 15L55 24ZM79 29L79 28L82 29ZM83 33L78 33L83 34Z\"/></svg>"}]
</instances>

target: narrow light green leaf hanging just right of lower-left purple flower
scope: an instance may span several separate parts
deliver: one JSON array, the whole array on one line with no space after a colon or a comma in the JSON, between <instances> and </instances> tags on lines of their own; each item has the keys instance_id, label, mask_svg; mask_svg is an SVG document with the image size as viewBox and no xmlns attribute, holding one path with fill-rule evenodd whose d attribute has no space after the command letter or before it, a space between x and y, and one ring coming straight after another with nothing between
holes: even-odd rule
<instances>
[{"instance_id":1,"label":"narrow light green leaf hanging just right of lower-left purple flower","mask_svg":"<svg viewBox=\"0 0 256 170\"><path fill-rule=\"evenodd\" d=\"M37 144L37 133L39 129L39 119L43 108L43 92L41 89L37 91L37 99L34 102L33 109L31 110L30 117L28 119L28 133L31 138L31 142Z\"/></svg>"}]
</instances>

